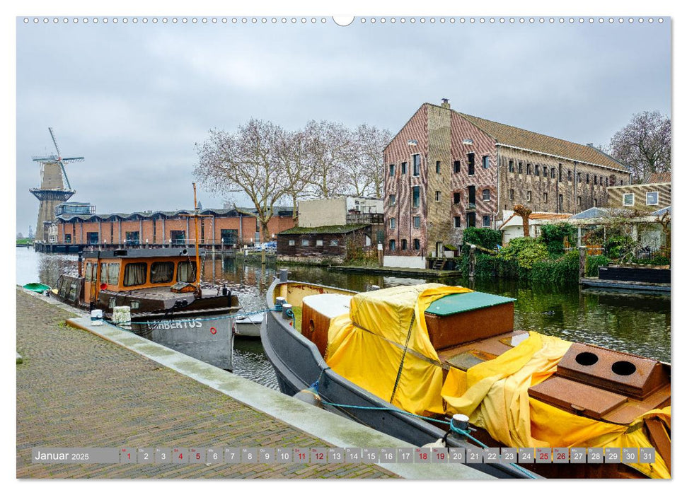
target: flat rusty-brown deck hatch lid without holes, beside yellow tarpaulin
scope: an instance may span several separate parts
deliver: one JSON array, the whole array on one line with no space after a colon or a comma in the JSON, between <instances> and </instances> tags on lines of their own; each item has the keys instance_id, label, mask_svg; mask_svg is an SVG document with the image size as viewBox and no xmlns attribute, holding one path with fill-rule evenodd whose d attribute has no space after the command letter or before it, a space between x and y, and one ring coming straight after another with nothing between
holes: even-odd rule
<instances>
[{"instance_id":1,"label":"flat rusty-brown deck hatch lid without holes, beside yellow tarpaulin","mask_svg":"<svg viewBox=\"0 0 687 495\"><path fill-rule=\"evenodd\" d=\"M628 397L614 394L591 385L553 376L529 388L535 399L565 409L573 414L584 414L601 419L604 414L627 402Z\"/></svg>"}]
</instances>

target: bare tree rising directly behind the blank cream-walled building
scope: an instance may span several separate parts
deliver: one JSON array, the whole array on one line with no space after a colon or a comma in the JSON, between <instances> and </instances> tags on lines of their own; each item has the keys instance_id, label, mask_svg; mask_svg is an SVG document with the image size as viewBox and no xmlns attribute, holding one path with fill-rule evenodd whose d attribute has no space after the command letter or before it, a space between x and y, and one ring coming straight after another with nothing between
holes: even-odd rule
<instances>
[{"instance_id":1,"label":"bare tree rising directly behind the blank cream-walled building","mask_svg":"<svg viewBox=\"0 0 687 495\"><path fill-rule=\"evenodd\" d=\"M352 158L352 133L342 124L311 120L305 127L308 161L315 171L311 185L319 197L349 192L347 167Z\"/></svg>"}]
</instances>

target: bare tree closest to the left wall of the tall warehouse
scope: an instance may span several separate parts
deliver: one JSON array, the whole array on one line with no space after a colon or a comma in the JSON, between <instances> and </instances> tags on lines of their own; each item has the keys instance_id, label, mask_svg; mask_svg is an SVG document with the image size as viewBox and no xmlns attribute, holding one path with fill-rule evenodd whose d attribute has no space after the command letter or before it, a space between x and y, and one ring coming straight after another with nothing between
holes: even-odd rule
<instances>
[{"instance_id":1,"label":"bare tree closest to the left wall of the tall warehouse","mask_svg":"<svg viewBox=\"0 0 687 495\"><path fill-rule=\"evenodd\" d=\"M355 129L356 158L361 172L355 182L364 194L381 198L384 194L384 148L391 141L388 129L361 124ZM360 187L362 185L363 187Z\"/></svg>"}]
</instances>

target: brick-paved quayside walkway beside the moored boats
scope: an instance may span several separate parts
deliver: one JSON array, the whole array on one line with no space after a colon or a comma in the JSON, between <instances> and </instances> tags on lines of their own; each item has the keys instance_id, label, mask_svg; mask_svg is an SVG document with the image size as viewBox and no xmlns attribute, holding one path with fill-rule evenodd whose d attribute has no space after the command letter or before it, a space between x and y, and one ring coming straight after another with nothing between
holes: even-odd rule
<instances>
[{"instance_id":1,"label":"brick-paved quayside walkway beside the moored boats","mask_svg":"<svg viewBox=\"0 0 687 495\"><path fill-rule=\"evenodd\" d=\"M327 447L269 415L89 332L17 290L17 477L386 478L377 465L32 464L33 447Z\"/></svg>"}]
</instances>

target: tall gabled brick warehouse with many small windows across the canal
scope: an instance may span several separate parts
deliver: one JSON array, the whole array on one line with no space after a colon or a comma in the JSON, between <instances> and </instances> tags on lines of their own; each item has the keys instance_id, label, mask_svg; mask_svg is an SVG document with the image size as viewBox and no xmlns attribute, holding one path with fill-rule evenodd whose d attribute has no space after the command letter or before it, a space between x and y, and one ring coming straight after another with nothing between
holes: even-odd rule
<instances>
[{"instance_id":1,"label":"tall gabled brick warehouse with many small windows across the canal","mask_svg":"<svg viewBox=\"0 0 687 495\"><path fill-rule=\"evenodd\" d=\"M591 145L456 112L448 100L424 103L384 149L384 164L390 265L441 256L462 243L463 228L497 228L516 204L575 214L605 205L606 187L630 183L625 165Z\"/></svg>"}]
</instances>

